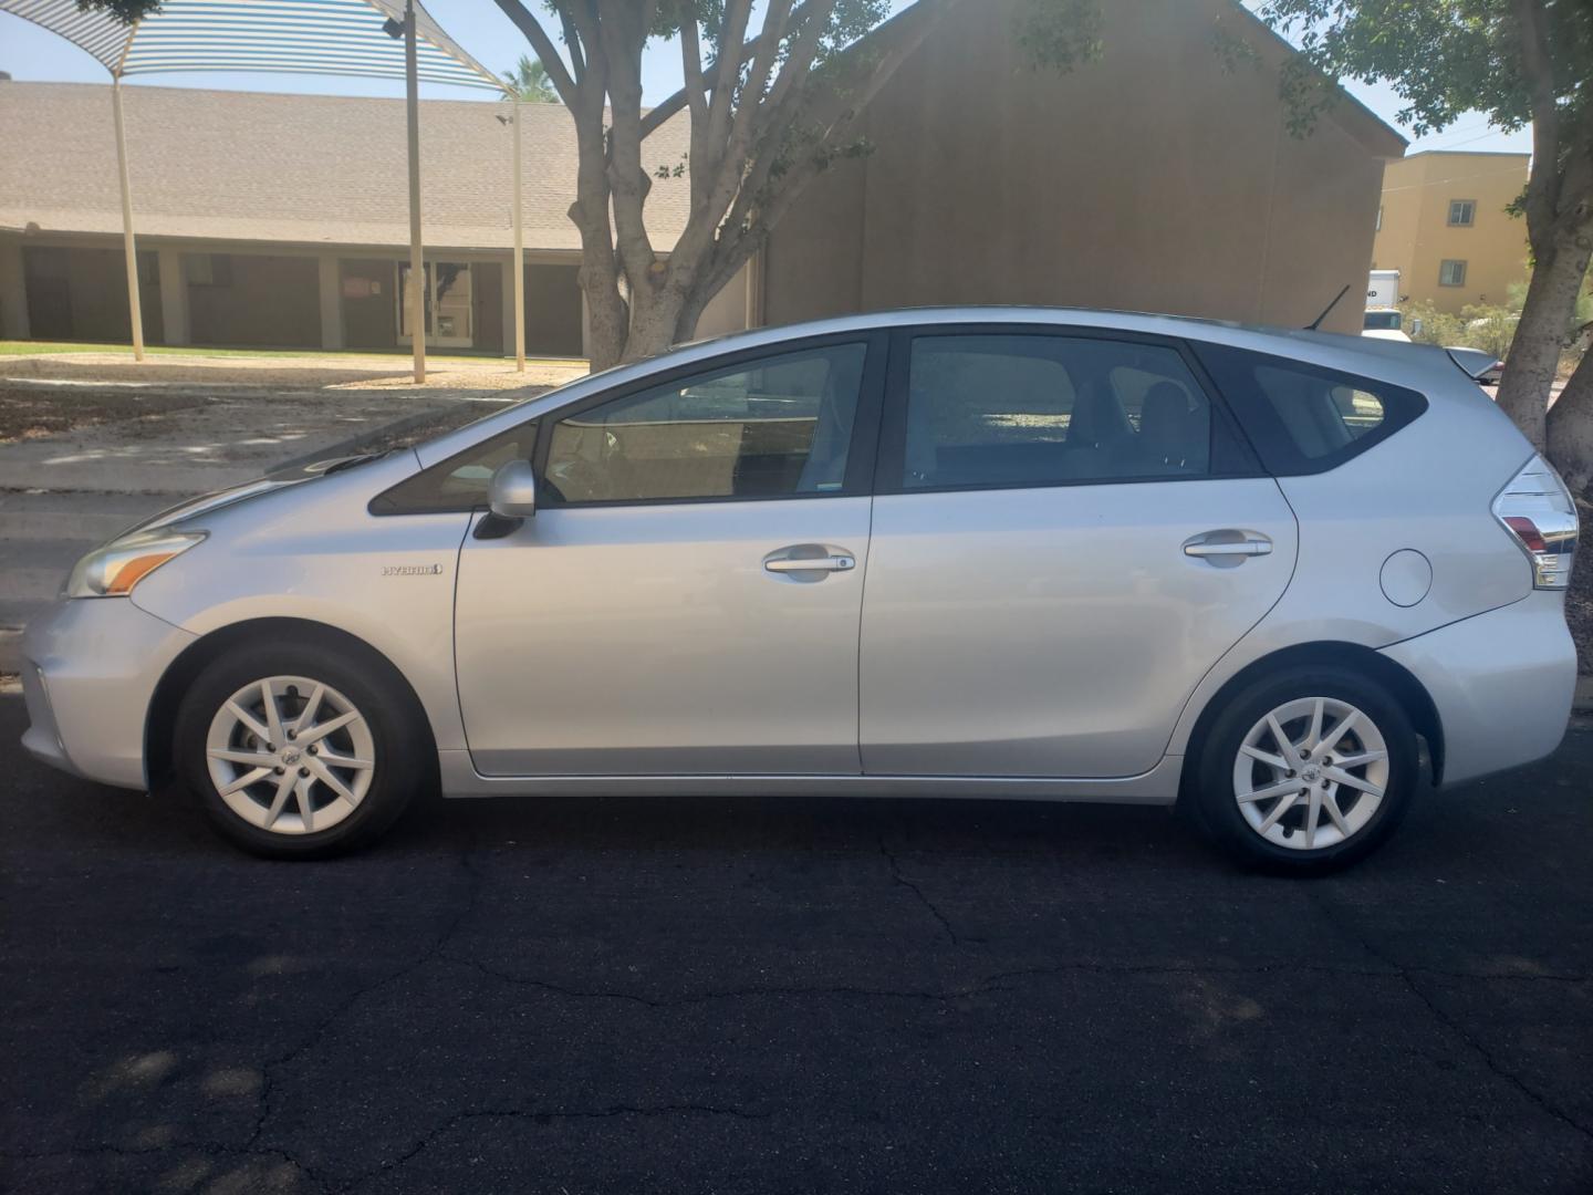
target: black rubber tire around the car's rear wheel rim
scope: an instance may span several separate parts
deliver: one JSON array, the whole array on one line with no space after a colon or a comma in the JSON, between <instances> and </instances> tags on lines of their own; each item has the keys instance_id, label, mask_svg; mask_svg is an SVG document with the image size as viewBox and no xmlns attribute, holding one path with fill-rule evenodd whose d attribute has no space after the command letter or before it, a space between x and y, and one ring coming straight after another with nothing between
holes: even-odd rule
<instances>
[{"instance_id":1,"label":"black rubber tire around the car's rear wheel rim","mask_svg":"<svg viewBox=\"0 0 1593 1195\"><path fill-rule=\"evenodd\" d=\"M1268 841L1246 819L1236 800L1235 765L1251 728L1268 712L1317 696L1344 701L1372 720L1388 750L1388 778L1381 803L1349 838L1309 851L1292 849ZM1416 731L1400 703L1370 677L1333 664L1289 668L1231 695L1196 744L1193 763L1193 790L1185 797L1196 824L1241 865L1284 875L1335 872L1376 851L1410 809L1421 776ZM1273 806L1257 808L1265 813ZM1287 830L1287 824L1281 829Z\"/></svg>"}]
</instances>

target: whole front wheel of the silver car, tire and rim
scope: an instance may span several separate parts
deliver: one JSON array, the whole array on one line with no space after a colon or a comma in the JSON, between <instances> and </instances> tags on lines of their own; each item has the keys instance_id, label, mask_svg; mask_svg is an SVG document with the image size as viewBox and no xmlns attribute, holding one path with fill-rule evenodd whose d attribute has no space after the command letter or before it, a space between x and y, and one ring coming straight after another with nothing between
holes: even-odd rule
<instances>
[{"instance_id":1,"label":"whole front wheel of the silver car, tire and rim","mask_svg":"<svg viewBox=\"0 0 1593 1195\"><path fill-rule=\"evenodd\" d=\"M307 859L373 841L430 774L424 735L352 653L250 647L212 661L177 715L178 774L234 844Z\"/></svg>"}]
</instances>

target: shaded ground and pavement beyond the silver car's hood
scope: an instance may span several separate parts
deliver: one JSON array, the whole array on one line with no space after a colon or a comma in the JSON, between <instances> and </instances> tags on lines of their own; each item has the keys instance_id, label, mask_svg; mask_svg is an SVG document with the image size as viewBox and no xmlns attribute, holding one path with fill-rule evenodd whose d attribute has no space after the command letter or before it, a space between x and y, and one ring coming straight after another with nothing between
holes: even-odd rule
<instances>
[{"instance_id":1,"label":"shaded ground and pavement beyond the silver car's hood","mask_svg":"<svg viewBox=\"0 0 1593 1195\"><path fill-rule=\"evenodd\" d=\"M158 510L292 460L413 443L585 373L465 362L417 389L393 358L91 355L0 357L0 672L72 564Z\"/></svg>"}]
</instances>

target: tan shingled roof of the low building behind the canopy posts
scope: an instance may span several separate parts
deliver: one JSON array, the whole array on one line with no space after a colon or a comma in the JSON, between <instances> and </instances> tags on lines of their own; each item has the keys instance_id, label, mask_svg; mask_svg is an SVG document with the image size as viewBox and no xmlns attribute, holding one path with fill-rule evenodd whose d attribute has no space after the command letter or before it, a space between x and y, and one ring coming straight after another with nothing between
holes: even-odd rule
<instances>
[{"instance_id":1,"label":"tan shingled roof of the low building behind the canopy posts","mask_svg":"<svg viewBox=\"0 0 1593 1195\"><path fill-rule=\"evenodd\" d=\"M390 247L409 242L401 99L124 86L140 237ZM508 102L421 102L421 206L432 249L510 249ZM523 104L526 247L578 250L575 127L558 104ZM648 156L687 153L685 116ZM0 81L0 228L121 233L110 88ZM647 201L655 247L685 228L683 178Z\"/></svg>"}]
</instances>

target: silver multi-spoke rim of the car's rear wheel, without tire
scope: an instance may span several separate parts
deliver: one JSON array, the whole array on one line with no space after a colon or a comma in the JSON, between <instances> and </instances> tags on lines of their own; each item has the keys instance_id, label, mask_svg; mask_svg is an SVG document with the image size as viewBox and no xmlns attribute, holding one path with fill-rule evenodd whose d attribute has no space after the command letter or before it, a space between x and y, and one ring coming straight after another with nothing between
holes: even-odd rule
<instances>
[{"instance_id":1,"label":"silver multi-spoke rim of the car's rear wheel, without tire","mask_svg":"<svg viewBox=\"0 0 1593 1195\"><path fill-rule=\"evenodd\" d=\"M1260 719L1239 744L1233 797L1273 846L1321 851L1364 830L1389 784L1376 723L1338 698L1298 698Z\"/></svg>"}]
</instances>

